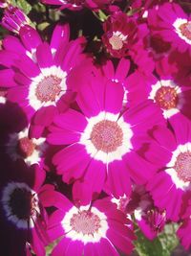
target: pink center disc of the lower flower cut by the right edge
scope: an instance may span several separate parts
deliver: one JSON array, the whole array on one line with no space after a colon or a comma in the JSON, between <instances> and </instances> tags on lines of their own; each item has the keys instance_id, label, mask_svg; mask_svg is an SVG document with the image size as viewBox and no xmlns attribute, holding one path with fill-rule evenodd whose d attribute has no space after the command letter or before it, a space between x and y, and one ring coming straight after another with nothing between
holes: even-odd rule
<instances>
[{"instance_id":1,"label":"pink center disc of the lower flower cut by the right edge","mask_svg":"<svg viewBox=\"0 0 191 256\"><path fill-rule=\"evenodd\" d=\"M180 152L175 163L178 177L184 182L191 182L191 151Z\"/></svg>"}]
</instances>

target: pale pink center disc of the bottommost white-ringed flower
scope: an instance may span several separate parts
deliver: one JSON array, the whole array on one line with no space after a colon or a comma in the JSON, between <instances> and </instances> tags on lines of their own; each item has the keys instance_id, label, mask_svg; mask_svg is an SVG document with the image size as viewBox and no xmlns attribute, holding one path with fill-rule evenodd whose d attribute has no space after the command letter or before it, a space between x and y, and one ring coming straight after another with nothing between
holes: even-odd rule
<instances>
[{"instance_id":1,"label":"pale pink center disc of the bottommost white-ringed flower","mask_svg":"<svg viewBox=\"0 0 191 256\"><path fill-rule=\"evenodd\" d=\"M71 219L71 226L77 233L94 236L100 228L100 219L90 211L81 211L78 214L74 214Z\"/></svg>"}]
</instances>

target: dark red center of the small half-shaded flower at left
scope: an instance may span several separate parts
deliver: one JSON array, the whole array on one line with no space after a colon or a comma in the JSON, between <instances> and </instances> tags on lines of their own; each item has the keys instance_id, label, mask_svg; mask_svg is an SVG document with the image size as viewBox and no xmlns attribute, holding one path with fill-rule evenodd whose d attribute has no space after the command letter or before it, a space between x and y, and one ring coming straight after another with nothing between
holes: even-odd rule
<instances>
[{"instance_id":1,"label":"dark red center of the small half-shaded flower at left","mask_svg":"<svg viewBox=\"0 0 191 256\"><path fill-rule=\"evenodd\" d=\"M22 138L17 143L17 152L24 158L31 156L36 145L28 137Z\"/></svg>"}]
</instances>

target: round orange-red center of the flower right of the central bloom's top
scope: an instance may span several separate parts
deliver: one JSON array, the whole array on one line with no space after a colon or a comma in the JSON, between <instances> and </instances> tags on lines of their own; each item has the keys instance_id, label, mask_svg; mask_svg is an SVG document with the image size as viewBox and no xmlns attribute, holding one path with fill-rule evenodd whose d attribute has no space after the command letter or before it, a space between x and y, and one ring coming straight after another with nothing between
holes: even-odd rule
<instances>
[{"instance_id":1,"label":"round orange-red center of the flower right of the central bloom's top","mask_svg":"<svg viewBox=\"0 0 191 256\"><path fill-rule=\"evenodd\" d=\"M162 109L171 109L178 105L178 94L175 88L162 86L156 93L155 101Z\"/></svg>"}]
</instances>

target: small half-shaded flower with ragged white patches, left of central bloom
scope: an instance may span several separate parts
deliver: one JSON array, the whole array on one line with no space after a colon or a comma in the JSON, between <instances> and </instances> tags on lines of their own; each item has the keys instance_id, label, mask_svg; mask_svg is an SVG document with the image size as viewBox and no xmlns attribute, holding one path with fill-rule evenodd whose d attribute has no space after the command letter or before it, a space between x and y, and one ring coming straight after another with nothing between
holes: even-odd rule
<instances>
[{"instance_id":1,"label":"small half-shaded flower with ragged white patches, left of central bloom","mask_svg":"<svg viewBox=\"0 0 191 256\"><path fill-rule=\"evenodd\" d=\"M23 159L26 164L42 164L44 153L48 148L46 138L29 138L29 128L11 133L6 145L6 151L12 161Z\"/></svg>"}]
</instances>

